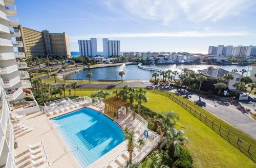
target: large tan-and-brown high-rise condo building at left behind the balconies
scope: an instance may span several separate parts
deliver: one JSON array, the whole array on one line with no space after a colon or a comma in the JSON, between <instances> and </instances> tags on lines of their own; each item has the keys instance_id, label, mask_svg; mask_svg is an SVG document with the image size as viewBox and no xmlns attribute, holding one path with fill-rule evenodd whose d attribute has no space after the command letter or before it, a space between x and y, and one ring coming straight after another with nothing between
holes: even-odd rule
<instances>
[{"instance_id":1,"label":"large tan-and-brown high-rise condo building at left behind the balconies","mask_svg":"<svg viewBox=\"0 0 256 168\"><path fill-rule=\"evenodd\" d=\"M16 40L22 41L24 47L19 48L20 52L25 52L26 58L45 57L46 55L59 55L71 57L69 36L67 33L49 33L49 31L36 31L18 25L16 28L22 36Z\"/></svg>"}]
</instances>

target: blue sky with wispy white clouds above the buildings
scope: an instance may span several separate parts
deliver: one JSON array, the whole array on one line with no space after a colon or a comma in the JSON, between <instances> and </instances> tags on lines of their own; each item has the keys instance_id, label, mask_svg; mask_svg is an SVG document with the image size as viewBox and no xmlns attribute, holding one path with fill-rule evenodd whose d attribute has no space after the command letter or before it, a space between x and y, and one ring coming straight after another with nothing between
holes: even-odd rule
<instances>
[{"instance_id":1,"label":"blue sky with wispy white clouds above the buildings","mask_svg":"<svg viewBox=\"0 0 256 168\"><path fill-rule=\"evenodd\" d=\"M209 45L256 45L255 0L16 0L19 23L78 39L120 40L121 51L207 53Z\"/></svg>"}]
</instances>

